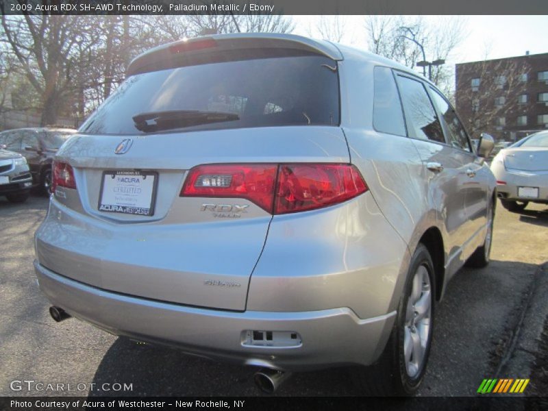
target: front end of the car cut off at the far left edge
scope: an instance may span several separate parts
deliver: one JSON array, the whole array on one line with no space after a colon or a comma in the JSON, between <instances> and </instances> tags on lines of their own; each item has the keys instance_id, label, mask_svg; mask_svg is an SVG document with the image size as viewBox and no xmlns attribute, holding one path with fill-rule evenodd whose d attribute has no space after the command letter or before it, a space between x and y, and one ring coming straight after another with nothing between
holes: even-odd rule
<instances>
[{"instance_id":1,"label":"front end of the car cut off at the far left edge","mask_svg":"<svg viewBox=\"0 0 548 411\"><path fill-rule=\"evenodd\" d=\"M22 203L29 198L32 186L27 160L3 147L0 145L0 195L12 203Z\"/></svg>"}]
</instances>

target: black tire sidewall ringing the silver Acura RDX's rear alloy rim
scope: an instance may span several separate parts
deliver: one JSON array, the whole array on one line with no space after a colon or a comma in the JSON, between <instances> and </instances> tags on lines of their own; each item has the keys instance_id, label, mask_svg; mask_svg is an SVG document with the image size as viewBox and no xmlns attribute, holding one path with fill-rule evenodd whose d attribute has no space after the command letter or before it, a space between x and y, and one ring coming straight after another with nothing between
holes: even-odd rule
<instances>
[{"instance_id":1,"label":"black tire sidewall ringing the silver Acura RDX's rear alloy rim","mask_svg":"<svg viewBox=\"0 0 548 411\"><path fill-rule=\"evenodd\" d=\"M429 327L429 338L428 338L428 345L425 350L425 357L423 360L423 364L421 366L421 370L415 377L410 377L406 370L406 360L403 353L403 338L404 338L404 332L403 332L403 326L406 321L406 307L408 299L411 295L411 289L413 284L413 278L416 273L416 270L419 268L419 266L424 265L428 271L428 276L430 279L430 295L431 295L431 302L430 302L430 327ZM426 371L426 366L428 363L429 353L430 353L430 347L432 347L432 336L434 332L434 305L436 300L436 283L435 283L435 277L434 277L434 264L432 262L432 257L430 257L430 254L427 250L427 248L419 244L419 246L416 248L416 251L413 254L413 257L411 258L409 270L408 270L408 276L406 279L406 286L404 288L404 293L401 298L399 309L398 309L398 317L397 317L397 361L396 361L396 369L399 371L399 373L396 373L395 377L399 377L399 381L397 382L397 386L401 390L401 394L403 395L411 395L413 394L417 388L421 385L421 382L423 380L423 376Z\"/></svg>"}]
</instances>

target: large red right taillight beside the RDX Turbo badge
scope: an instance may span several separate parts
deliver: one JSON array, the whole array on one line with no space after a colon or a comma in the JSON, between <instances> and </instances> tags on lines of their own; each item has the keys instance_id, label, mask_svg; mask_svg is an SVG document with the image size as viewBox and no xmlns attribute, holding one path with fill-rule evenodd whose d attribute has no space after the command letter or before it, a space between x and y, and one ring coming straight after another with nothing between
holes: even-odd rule
<instances>
[{"instance_id":1,"label":"large red right taillight beside the RDX Turbo badge","mask_svg":"<svg viewBox=\"0 0 548 411\"><path fill-rule=\"evenodd\" d=\"M351 164L213 164L191 169L181 196L248 199L286 214L342 203L367 189Z\"/></svg>"}]
</instances>

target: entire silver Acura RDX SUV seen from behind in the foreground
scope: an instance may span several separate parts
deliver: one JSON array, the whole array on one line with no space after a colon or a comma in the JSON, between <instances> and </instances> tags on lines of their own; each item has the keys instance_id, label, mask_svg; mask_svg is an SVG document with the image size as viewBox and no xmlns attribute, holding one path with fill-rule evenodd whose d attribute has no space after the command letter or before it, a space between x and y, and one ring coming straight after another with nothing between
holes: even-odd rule
<instances>
[{"instance_id":1,"label":"entire silver Acura RDX SUV seen from behind in the foreground","mask_svg":"<svg viewBox=\"0 0 548 411\"><path fill-rule=\"evenodd\" d=\"M266 390L357 364L409 394L434 302L488 263L495 198L447 99L403 66L299 36L179 41L55 156L36 274L55 319L263 367Z\"/></svg>"}]
</instances>

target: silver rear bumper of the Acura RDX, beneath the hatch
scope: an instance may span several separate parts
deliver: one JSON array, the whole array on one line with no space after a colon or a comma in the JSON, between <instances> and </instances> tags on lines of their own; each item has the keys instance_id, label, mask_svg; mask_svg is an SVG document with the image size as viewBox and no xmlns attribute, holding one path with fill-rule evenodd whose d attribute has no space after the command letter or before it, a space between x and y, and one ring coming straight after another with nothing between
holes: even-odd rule
<instances>
[{"instance_id":1,"label":"silver rear bumper of the Acura RDX, beneath the hatch","mask_svg":"<svg viewBox=\"0 0 548 411\"><path fill-rule=\"evenodd\" d=\"M112 334L179 347L240 364L303 371L368 365L384 349L395 312L360 319L349 308L308 312L208 310L131 297L63 277L34 262L40 289L55 306ZM247 330L296 332L295 347L244 343Z\"/></svg>"}]
</instances>

